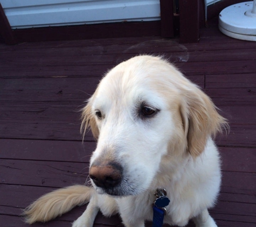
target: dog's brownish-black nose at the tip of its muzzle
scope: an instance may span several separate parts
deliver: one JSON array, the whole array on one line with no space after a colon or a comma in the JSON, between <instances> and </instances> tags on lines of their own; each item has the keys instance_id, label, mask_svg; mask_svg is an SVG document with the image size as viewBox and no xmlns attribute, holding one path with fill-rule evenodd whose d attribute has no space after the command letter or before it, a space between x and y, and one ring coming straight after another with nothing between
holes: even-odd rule
<instances>
[{"instance_id":1,"label":"dog's brownish-black nose at the tip of its muzzle","mask_svg":"<svg viewBox=\"0 0 256 227\"><path fill-rule=\"evenodd\" d=\"M119 185L122 181L122 166L115 162L108 164L92 164L89 177L96 186L110 189Z\"/></svg>"}]
</instances>

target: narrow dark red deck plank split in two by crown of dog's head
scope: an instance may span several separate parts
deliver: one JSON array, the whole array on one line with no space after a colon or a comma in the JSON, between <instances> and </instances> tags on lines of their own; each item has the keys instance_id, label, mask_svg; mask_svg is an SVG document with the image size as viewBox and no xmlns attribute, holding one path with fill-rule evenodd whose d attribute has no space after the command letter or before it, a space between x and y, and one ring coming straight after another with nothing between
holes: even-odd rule
<instances>
[{"instance_id":1,"label":"narrow dark red deck plank split in two by crown of dog's head","mask_svg":"<svg viewBox=\"0 0 256 227\"><path fill-rule=\"evenodd\" d=\"M115 64L116 65L116 64ZM67 76L99 76L107 72L115 65L101 66L19 66L10 69L2 68L2 78L19 77L67 77ZM209 61L205 62L176 62L176 66L182 70L186 76L190 75L209 75L209 74L246 74L255 71L256 60L241 61Z\"/></svg>"}]
</instances>

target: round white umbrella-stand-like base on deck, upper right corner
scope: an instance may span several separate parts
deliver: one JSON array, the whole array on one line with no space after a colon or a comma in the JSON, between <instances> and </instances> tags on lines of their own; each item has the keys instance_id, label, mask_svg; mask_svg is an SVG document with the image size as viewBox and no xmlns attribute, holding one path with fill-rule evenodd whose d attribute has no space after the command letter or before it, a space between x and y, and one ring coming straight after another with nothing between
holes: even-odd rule
<instances>
[{"instance_id":1,"label":"round white umbrella-stand-like base on deck, upper right corner","mask_svg":"<svg viewBox=\"0 0 256 227\"><path fill-rule=\"evenodd\" d=\"M256 0L225 8L219 14L219 30L232 38L256 41L256 13L253 4L256 4Z\"/></svg>"}]
</instances>

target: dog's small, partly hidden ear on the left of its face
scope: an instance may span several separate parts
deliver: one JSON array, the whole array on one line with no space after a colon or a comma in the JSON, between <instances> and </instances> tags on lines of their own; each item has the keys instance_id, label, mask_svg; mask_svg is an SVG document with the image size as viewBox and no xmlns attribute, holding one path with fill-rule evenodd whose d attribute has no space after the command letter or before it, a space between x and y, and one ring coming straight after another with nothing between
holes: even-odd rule
<instances>
[{"instance_id":1,"label":"dog's small, partly hidden ear on the left of its face","mask_svg":"<svg viewBox=\"0 0 256 227\"><path fill-rule=\"evenodd\" d=\"M82 133L82 138L84 139L86 130L91 129L93 133L93 137L95 139L98 139L99 137L99 129L96 124L94 113L92 112L92 106L91 103L88 102L87 105L82 108L82 124L80 127L80 132Z\"/></svg>"}]
</instances>

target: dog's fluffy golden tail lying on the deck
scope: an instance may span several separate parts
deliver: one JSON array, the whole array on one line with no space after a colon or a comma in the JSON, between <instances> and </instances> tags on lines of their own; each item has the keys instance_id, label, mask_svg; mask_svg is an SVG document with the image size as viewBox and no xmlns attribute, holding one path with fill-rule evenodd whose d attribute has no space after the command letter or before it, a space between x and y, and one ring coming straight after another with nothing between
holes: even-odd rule
<instances>
[{"instance_id":1,"label":"dog's fluffy golden tail lying on the deck","mask_svg":"<svg viewBox=\"0 0 256 227\"><path fill-rule=\"evenodd\" d=\"M83 185L61 188L38 198L24 209L25 222L47 222L70 211L76 205L89 202L94 189Z\"/></svg>"}]
</instances>

